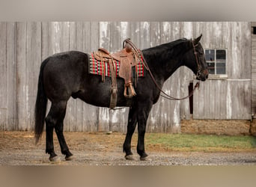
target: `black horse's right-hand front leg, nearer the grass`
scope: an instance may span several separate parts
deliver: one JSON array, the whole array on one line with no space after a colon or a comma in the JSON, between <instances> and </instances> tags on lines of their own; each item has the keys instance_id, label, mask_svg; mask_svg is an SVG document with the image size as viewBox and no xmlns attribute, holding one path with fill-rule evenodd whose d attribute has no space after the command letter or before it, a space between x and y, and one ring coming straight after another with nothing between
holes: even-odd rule
<instances>
[{"instance_id":1,"label":"black horse's right-hand front leg, nearer the grass","mask_svg":"<svg viewBox=\"0 0 256 187\"><path fill-rule=\"evenodd\" d=\"M147 153L145 153L144 148L144 135L146 132L147 126L147 117L152 108L151 102L143 102L143 104L138 108L138 144L137 144L137 153L141 160L145 160Z\"/></svg>"}]
</instances>

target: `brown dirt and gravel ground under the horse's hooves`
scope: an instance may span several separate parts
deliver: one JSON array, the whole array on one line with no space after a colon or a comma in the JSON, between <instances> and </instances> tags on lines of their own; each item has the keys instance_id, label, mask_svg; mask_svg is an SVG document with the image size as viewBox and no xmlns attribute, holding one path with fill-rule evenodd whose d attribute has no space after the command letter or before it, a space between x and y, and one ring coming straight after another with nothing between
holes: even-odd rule
<instances>
[{"instance_id":1,"label":"brown dirt and gravel ground under the horse's hooves","mask_svg":"<svg viewBox=\"0 0 256 187\"><path fill-rule=\"evenodd\" d=\"M34 144L33 132L0 132L0 165L256 165L256 151L232 153L172 152L146 144L149 155L140 161L136 153L137 135L132 137L133 161L124 159L125 135L114 132L65 132L74 159L65 161L55 136L55 152L61 162L49 162L45 134Z\"/></svg>"}]
</instances>

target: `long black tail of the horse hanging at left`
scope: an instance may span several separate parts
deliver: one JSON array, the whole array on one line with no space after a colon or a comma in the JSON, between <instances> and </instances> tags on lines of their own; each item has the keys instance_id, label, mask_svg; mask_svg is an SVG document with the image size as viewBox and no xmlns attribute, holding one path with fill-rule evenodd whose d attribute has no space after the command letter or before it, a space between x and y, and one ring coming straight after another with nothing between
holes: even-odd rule
<instances>
[{"instance_id":1,"label":"long black tail of the horse hanging at left","mask_svg":"<svg viewBox=\"0 0 256 187\"><path fill-rule=\"evenodd\" d=\"M44 118L46 117L47 97L43 87L43 69L49 58L46 58L41 64L40 73L37 84L37 100L34 107L34 138L35 144L39 141L44 126Z\"/></svg>"}]
</instances>

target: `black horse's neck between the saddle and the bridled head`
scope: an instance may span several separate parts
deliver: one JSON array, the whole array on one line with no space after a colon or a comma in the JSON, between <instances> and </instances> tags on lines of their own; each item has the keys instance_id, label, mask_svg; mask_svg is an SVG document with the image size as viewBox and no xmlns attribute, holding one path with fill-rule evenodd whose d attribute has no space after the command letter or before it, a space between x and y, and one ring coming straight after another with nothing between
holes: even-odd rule
<instances>
[{"instance_id":1,"label":"black horse's neck between the saddle and the bridled head","mask_svg":"<svg viewBox=\"0 0 256 187\"><path fill-rule=\"evenodd\" d=\"M183 57L188 51L188 44L175 46L163 44L143 51L148 67L158 82L165 82L179 67L183 66Z\"/></svg>"}]
</instances>

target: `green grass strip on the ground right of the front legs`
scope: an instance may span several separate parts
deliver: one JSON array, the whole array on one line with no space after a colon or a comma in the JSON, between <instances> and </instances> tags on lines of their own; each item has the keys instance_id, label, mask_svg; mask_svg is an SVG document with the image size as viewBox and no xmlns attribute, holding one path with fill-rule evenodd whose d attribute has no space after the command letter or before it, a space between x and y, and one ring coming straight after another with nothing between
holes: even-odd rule
<instances>
[{"instance_id":1,"label":"green grass strip on the ground right of the front legs","mask_svg":"<svg viewBox=\"0 0 256 187\"><path fill-rule=\"evenodd\" d=\"M149 149L173 151L230 152L256 150L256 137L249 135L186 135L150 133L145 136Z\"/></svg>"}]
</instances>

